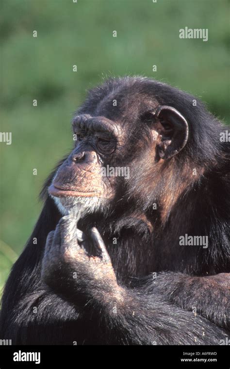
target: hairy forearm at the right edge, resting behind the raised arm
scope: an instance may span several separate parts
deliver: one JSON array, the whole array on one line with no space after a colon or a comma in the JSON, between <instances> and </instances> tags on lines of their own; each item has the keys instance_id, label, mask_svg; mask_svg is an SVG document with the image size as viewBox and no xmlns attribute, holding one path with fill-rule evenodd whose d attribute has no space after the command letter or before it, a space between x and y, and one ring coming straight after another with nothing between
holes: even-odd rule
<instances>
[{"instance_id":1,"label":"hairy forearm at the right edge, resting behind the raised arm","mask_svg":"<svg viewBox=\"0 0 230 369\"><path fill-rule=\"evenodd\" d=\"M230 273L205 277L159 273L156 279L144 281L143 290L160 293L170 302L230 329Z\"/></svg>"}]
</instances>

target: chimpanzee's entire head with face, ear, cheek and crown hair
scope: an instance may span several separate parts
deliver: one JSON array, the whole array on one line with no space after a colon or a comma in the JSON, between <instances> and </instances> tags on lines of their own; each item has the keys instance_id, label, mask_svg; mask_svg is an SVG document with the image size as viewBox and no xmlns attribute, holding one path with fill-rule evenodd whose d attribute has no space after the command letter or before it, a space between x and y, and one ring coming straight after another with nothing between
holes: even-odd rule
<instances>
[{"instance_id":1,"label":"chimpanzee's entire head with face, ear, cheek and crown hair","mask_svg":"<svg viewBox=\"0 0 230 369\"><path fill-rule=\"evenodd\" d=\"M109 80L92 90L73 118L75 147L49 187L59 208L65 212L82 202L93 212L121 200L125 206L159 201L170 208L191 182L198 158L194 127L190 131L185 117L199 124L193 99L140 77ZM174 199L167 194L172 182L178 183Z\"/></svg>"}]
</instances>

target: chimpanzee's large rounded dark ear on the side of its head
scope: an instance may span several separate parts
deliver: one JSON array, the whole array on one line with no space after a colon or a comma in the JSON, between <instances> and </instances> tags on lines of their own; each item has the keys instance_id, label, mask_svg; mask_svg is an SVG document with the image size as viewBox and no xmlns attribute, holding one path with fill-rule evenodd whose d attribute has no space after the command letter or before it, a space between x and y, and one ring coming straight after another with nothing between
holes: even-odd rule
<instances>
[{"instance_id":1,"label":"chimpanzee's large rounded dark ear on the side of its head","mask_svg":"<svg viewBox=\"0 0 230 369\"><path fill-rule=\"evenodd\" d=\"M188 140L188 123L186 119L171 106L160 106L154 112L156 122L160 122L158 132L161 140L157 144L159 156L169 159L178 154Z\"/></svg>"}]
</instances>

